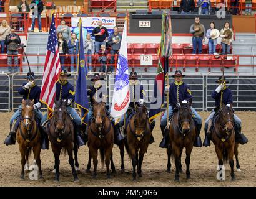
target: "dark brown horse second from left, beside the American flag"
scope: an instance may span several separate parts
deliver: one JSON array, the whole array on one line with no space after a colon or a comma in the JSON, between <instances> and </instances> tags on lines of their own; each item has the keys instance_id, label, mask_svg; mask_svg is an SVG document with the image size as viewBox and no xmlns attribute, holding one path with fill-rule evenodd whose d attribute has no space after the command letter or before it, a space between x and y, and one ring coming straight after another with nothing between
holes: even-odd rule
<instances>
[{"instance_id":1,"label":"dark brown horse second from left, beside the American flag","mask_svg":"<svg viewBox=\"0 0 256 199\"><path fill-rule=\"evenodd\" d=\"M74 177L74 182L79 182L77 177L74 159L73 159L73 149L74 145L74 126L72 124L71 118L67 113L67 101L56 101L54 100L55 108L54 114L50 119L49 123L49 140L51 142L52 152L55 159L55 178L54 181L59 182L59 155L61 154L61 149L65 149L65 154L69 155L69 164L72 168L72 175ZM75 152L76 154L77 152Z\"/></svg>"}]
</instances>

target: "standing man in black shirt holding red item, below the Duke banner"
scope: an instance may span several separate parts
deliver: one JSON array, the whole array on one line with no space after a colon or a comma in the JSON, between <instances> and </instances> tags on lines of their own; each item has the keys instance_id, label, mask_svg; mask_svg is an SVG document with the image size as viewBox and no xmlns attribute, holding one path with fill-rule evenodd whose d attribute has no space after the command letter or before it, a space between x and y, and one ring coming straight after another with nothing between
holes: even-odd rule
<instances>
[{"instance_id":1,"label":"standing man in black shirt holding red item, below the Duke banner","mask_svg":"<svg viewBox=\"0 0 256 199\"><path fill-rule=\"evenodd\" d=\"M106 46L107 37L109 33L107 32L106 27L102 26L102 21L98 21L98 27L92 30L92 36L95 37L95 51L99 52L99 47L104 44Z\"/></svg>"}]
</instances>

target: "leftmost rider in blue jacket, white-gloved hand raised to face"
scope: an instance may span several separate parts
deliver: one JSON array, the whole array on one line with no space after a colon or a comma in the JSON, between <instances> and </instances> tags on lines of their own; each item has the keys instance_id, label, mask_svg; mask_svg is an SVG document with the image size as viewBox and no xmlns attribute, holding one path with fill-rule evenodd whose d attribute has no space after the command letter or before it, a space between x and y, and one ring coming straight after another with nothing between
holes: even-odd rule
<instances>
[{"instance_id":1,"label":"leftmost rider in blue jacket, white-gloved hand raised to face","mask_svg":"<svg viewBox=\"0 0 256 199\"><path fill-rule=\"evenodd\" d=\"M42 113L40 111L41 108L41 103L39 101L40 99L40 93L41 93L41 88L40 86L36 85L36 76L34 75L33 72L27 73L26 76L27 82L23 83L22 86L18 89L18 92L20 95L23 96L22 99L24 100L34 100L34 113L36 116L36 121L38 123L41 122L42 119ZM6 140L4 141L4 144L6 145L11 145L15 144L16 142L16 122L21 116L21 111L22 111L22 105L19 105L19 109L12 115L12 118L10 120L10 134L7 136ZM43 148L44 149L44 148Z\"/></svg>"}]
</instances>

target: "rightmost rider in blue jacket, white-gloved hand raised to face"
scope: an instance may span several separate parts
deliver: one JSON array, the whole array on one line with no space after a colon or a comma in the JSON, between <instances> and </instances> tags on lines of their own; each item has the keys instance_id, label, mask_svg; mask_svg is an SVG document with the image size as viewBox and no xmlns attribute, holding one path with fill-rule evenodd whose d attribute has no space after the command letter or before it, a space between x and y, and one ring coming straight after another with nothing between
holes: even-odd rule
<instances>
[{"instance_id":1,"label":"rightmost rider in blue jacket, white-gloved hand raised to face","mask_svg":"<svg viewBox=\"0 0 256 199\"><path fill-rule=\"evenodd\" d=\"M232 100L232 90L227 88L226 84L229 83L229 81L226 80L224 77L222 79L222 76L219 77L216 83L219 83L219 86L212 91L212 98L215 99L215 108L212 109L212 112L210 113L209 117L205 120L205 139L203 145L205 147L210 146L210 132L211 132L211 126L212 121L214 120L215 112L217 109L220 108L220 99L221 99L221 91L222 93L222 104L225 104L225 106L231 106L233 103ZM234 122L235 122L235 142L239 142L239 144L245 144L248 142L247 138L244 136L244 134L241 133L241 123L242 121L239 119L239 117L234 114Z\"/></svg>"}]
</instances>

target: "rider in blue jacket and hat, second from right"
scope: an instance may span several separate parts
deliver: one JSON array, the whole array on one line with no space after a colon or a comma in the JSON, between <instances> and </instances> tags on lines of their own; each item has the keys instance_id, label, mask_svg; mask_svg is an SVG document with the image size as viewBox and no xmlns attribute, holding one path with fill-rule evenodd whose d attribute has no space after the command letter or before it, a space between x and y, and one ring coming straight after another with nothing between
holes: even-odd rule
<instances>
[{"instance_id":1,"label":"rider in blue jacket and hat, second from right","mask_svg":"<svg viewBox=\"0 0 256 199\"><path fill-rule=\"evenodd\" d=\"M192 103L192 93L190 91L190 88L182 81L182 78L184 76L185 75L182 75L182 72L180 70L176 70L175 74L172 75L172 77L174 77L174 82L171 83L169 86L165 87L165 95L169 95L169 116L167 120L167 111L165 111L160 121L160 127L163 134L163 139L162 142L160 143L160 147L162 148L167 148L168 146L169 126L167 126L167 122L172 117L174 108L176 106L179 107L180 103ZM192 108L192 106L190 108L193 114L193 119L195 121L195 127L197 131L194 146L202 147L202 141L199 136L202 127L202 119L200 115L197 113L197 111L195 111L195 109Z\"/></svg>"}]
</instances>

